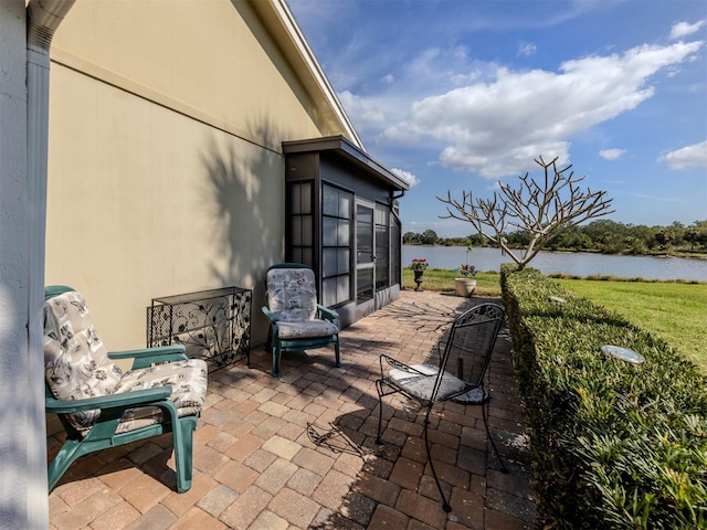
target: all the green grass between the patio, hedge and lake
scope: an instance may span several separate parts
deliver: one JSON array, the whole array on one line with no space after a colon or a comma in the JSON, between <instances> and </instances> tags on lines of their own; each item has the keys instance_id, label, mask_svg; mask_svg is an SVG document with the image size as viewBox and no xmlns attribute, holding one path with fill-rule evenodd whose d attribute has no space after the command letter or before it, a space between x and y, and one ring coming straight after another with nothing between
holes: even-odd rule
<instances>
[{"instance_id":1,"label":"all the green grass between the patio, hedge and lake","mask_svg":"<svg viewBox=\"0 0 707 530\"><path fill-rule=\"evenodd\" d=\"M414 289L413 273L403 269L403 288ZM424 290L454 292L455 271L429 268ZM500 275L478 273L475 295L500 296ZM597 280L601 279L601 280ZM601 304L630 322L661 337L707 374L707 284L677 282L627 282L625 278L555 278L567 290Z\"/></svg>"}]
</instances>

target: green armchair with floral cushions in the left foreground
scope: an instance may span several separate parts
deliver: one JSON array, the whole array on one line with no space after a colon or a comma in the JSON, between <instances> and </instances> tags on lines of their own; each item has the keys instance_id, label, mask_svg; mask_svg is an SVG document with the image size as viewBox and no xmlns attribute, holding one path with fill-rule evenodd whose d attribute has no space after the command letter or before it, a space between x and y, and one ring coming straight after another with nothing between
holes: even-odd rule
<instances>
[{"instance_id":1,"label":"green armchair with floral cushions in the left foreground","mask_svg":"<svg viewBox=\"0 0 707 530\"><path fill-rule=\"evenodd\" d=\"M66 441L49 466L49 489L76 458L172 433L177 491L191 487L192 435L207 394L207 363L183 346L106 351L81 294L45 288L46 412L59 415ZM114 361L123 359L124 372Z\"/></svg>"}]
</instances>

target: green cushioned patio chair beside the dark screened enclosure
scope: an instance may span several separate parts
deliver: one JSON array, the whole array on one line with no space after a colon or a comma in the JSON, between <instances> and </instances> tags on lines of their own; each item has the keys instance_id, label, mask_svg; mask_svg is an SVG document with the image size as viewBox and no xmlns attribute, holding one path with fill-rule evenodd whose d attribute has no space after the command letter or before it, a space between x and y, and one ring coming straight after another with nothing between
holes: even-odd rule
<instances>
[{"instance_id":1,"label":"green cushioned patio chair beside the dark screened enclosure","mask_svg":"<svg viewBox=\"0 0 707 530\"><path fill-rule=\"evenodd\" d=\"M273 377L279 377L283 351L334 346L336 365L340 367L339 316L317 304L314 272L299 263L279 263L270 267L266 276L263 314L270 320L267 348L273 353Z\"/></svg>"}]
</instances>

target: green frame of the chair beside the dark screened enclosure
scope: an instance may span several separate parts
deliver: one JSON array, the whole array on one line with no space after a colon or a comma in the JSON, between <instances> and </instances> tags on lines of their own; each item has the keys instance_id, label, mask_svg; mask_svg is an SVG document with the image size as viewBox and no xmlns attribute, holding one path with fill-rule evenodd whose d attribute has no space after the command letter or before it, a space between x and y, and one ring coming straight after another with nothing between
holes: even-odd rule
<instances>
[{"instance_id":1,"label":"green frame of the chair beside the dark screened enclosure","mask_svg":"<svg viewBox=\"0 0 707 530\"><path fill-rule=\"evenodd\" d=\"M312 268L307 265L303 265L302 263L277 263L267 267L265 273L265 277L267 278L267 273L274 268ZM267 280L266 280L267 282ZM266 287L267 288L267 287ZM267 342L265 347L272 351L273 353L273 377L279 377L279 364L283 351L304 351L313 348L325 348L327 346L334 346L334 352L336 358L336 367L339 368L341 365L341 359L339 353L339 333L335 333L328 337L308 337L308 338L299 338L299 339L281 339L278 336L277 329L277 317L273 314L267 306L263 306L263 314L267 317L270 321L270 330L267 333ZM321 304L317 304L317 315L316 318L321 320L329 320L337 328L339 328L339 315L328 307L323 306Z\"/></svg>"}]
</instances>

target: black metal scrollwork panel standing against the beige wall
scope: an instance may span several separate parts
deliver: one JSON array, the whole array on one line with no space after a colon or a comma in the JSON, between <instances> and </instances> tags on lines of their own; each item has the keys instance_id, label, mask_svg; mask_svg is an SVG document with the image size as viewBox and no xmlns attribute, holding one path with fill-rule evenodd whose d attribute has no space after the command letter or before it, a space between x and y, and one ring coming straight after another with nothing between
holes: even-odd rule
<instances>
[{"instance_id":1,"label":"black metal scrollwork panel standing against the beige wall","mask_svg":"<svg viewBox=\"0 0 707 530\"><path fill-rule=\"evenodd\" d=\"M198 295L148 308L148 346L183 344L187 356L205 360L210 371L249 358L252 293Z\"/></svg>"}]
</instances>

